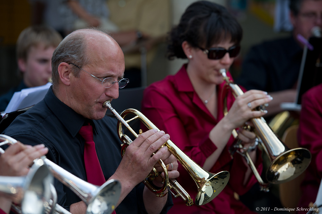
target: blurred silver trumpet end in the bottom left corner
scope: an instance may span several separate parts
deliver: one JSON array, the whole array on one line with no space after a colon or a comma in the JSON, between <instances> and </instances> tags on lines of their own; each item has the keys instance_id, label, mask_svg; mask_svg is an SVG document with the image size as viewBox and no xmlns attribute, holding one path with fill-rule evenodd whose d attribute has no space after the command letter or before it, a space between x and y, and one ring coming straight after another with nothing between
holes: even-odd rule
<instances>
[{"instance_id":1,"label":"blurred silver trumpet end in the bottom left corner","mask_svg":"<svg viewBox=\"0 0 322 214\"><path fill-rule=\"evenodd\" d=\"M45 164L33 164L26 176L0 176L0 195L8 197L23 214L43 214L51 198L52 174Z\"/></svg>"}]
</instances>

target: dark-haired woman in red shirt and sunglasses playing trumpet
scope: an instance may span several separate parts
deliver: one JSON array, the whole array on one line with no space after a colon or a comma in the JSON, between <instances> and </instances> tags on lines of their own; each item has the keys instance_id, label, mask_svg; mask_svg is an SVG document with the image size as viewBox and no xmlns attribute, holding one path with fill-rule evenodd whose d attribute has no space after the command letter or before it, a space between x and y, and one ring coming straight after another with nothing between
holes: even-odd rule
<instances>
[{"instance_id":1,"label":"dark-haired woman in red shirt and sunglasses playing trumpet","mask_svg":"<svg viewBox=\"0 0 322 214\"><path fill-rule=\"evenodd\" d=\"M234 143L232 130L241 127L250 118L265 115L253 110L272 98L266 92L250 90L234 98L228 93L229 112L223 113L224 82L220 69L227 70L240 51L242 28L221 5L208 1L191 4L182 15L179 25L169 34L168 58L188 59L174 75L146 88L142 113L205 170L230 172L226 187L212 201L203 206L188 207L174 199L169 213L252 213L234 192L244 194L257 182L245 159L229 147ZM254 144L252 132L239 131L244 147ZM252 147L250 147L252 148ZM260 151L249 151L259 172L262 170ZM170 166L171 167L171 166ZM193 179L179 164L178 182L194 199L197 188Z\"/></svg>"}]
</instances>

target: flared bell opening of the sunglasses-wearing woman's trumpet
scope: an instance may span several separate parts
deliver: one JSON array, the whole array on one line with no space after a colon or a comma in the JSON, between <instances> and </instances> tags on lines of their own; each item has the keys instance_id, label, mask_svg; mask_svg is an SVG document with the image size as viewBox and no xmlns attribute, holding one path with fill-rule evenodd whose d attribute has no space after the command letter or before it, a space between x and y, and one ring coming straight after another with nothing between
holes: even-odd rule
<instances>
[{"instance_id":1,"label":"flared bell opening of the sunglasses-wearing woman's trumpet","mask_svg":"<svg viewBox=\"0 0 322 214\"><path fill-rule=\"evenodd\" d=\"M290 149L272 161L266 172L266 179L274 184L291 181L304 172L310 162L311 153L308 149Z\"/></svg>"}]
</instances>

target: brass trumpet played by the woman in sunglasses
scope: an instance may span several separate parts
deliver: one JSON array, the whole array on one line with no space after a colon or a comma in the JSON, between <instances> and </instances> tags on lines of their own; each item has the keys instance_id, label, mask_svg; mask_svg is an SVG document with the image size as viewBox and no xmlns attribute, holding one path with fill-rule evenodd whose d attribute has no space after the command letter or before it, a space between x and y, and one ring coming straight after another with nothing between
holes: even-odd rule
<instances>
[{"instance_id":1,"label":"brass trumpet played by the woman in sunglasses","mask_svg":"<svg viewBox=\"0 0 322 214\"><path fill-rule=\"evenodd\" d=\"M220 73L223 75L223 79L226 81L226 86L229 87L235 98L244 94L242 89L227 77L225 69L221 69ZM258 108L258 110L260 109L263 109L263 107ZM226 115L227 113L227 102L225 98L224 114ZM254 132L257 135L259 143L262 145L263 150L271 161L266 172L266 179L269 183L279 184L291 181L306 170L311 162L311 153L308 149L289 149L279 140L271 130L270 126L267 125L263 117L252 118L251 122L254 124ZM236 130L233 130L232 134L235 138L237 137ZM236 147L239 147L239 145ZM254 163L251 161L251 157L248 152L245 151L242 155L246 158L257 181L260 183L261 190L269 191L269 183L264 183L261 179L260 174L258 173Z\"/></svg>"}]
</instances>

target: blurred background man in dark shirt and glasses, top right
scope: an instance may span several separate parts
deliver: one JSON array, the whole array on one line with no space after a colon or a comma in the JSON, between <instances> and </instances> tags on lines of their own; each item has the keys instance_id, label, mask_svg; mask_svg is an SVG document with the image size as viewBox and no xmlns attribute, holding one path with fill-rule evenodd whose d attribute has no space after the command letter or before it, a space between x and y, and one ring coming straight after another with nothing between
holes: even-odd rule
<instances>
[{"instance_id":1,"label":"blurred background man in dark shirt and glasses, top right","mask_svg":"<svg viewBox=\"0 0 322 214\"><path fill-rule=\"evenodd\" d=\"M321 0L289 0L292 34L287 38L263 42L253 46L242 62L242 71L235 80L247 90L267 91L273 100L266 108L266 116L281 112L281 102L294 102L296 85L303 54L303 43L312 36L312 28L322 28Z\"/></svg>"}]
</instances>

